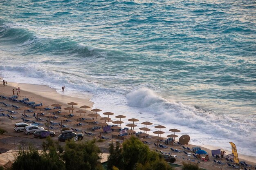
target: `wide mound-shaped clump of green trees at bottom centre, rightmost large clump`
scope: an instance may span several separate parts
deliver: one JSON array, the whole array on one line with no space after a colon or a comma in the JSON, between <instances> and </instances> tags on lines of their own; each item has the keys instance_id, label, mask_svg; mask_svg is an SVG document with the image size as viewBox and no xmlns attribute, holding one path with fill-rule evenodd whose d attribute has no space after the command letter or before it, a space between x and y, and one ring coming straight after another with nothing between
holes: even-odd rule
<instances>
[{"instance_id":1,"label":"wide mound-shaped clump of green trees at bottom centre, rightmost large clump","mask_svg":"<svg viewBox=\"0 0 256 170\"><path fill-rule=\"evenodd\" d=\"M151 151L136 137L123 143L117 142L116 147L110 144L108 170L172 170L161 154Z\"/></svg>"}]
</instances>

